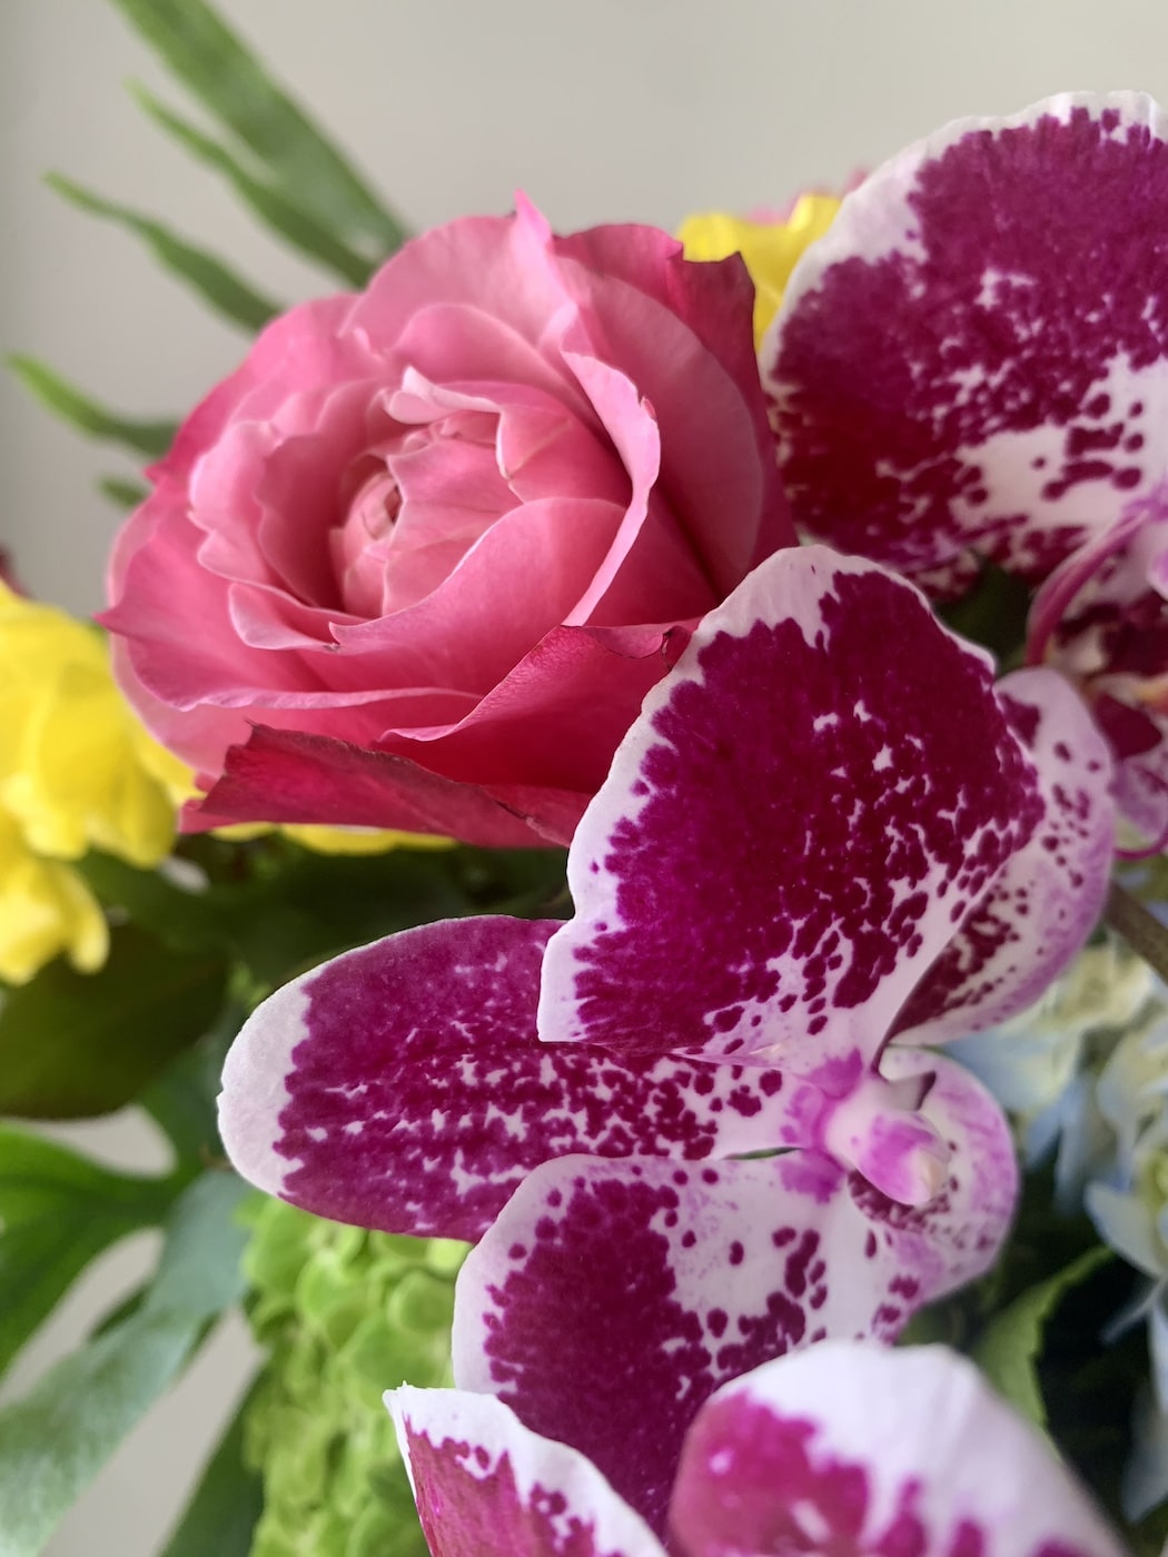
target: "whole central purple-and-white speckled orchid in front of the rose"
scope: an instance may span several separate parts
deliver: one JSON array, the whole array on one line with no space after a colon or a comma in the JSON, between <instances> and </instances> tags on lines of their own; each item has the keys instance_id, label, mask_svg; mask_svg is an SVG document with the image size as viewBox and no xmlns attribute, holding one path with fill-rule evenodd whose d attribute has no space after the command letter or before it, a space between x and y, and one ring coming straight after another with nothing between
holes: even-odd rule
<instances>
[{"instance_id":1,"label":"whole central purple-and-white speckled orchid in front of the rose","mask_svg":"<svg viewBox=\"0 0 1168 1557\"><path fill-rule=\"evenodd\" d=\"M456 1383L660 1527L721 1383L892 1339L995 1258L1004 1118L922 1045L1065 965L1110 831L1059 676L995 687L909 584L779 553L648 698L576 917L425 925L287 986L227 1059L224 1143L321 1214L478 1241Z\"/></svg>"}]
</instances>

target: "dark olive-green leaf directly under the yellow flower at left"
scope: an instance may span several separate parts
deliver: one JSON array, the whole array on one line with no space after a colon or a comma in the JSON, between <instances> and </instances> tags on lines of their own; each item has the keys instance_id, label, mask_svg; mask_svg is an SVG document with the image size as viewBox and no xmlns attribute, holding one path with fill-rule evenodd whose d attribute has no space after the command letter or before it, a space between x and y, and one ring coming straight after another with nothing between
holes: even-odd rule
<instances>
[{"instance_id":1,"label":"dark olive-green leaf directly under the yellow flower at left","mask_svg":"<svg viewBox=\"0 0 1168 1557\"><path fill-rule=\"evenodd\" d=\"M76 1119L129 1102L210 1026L221 958L173 951L134 925L111 934L98 973L64 961L0 1006L0 1112Z\"/></svg>"}]
</instances>

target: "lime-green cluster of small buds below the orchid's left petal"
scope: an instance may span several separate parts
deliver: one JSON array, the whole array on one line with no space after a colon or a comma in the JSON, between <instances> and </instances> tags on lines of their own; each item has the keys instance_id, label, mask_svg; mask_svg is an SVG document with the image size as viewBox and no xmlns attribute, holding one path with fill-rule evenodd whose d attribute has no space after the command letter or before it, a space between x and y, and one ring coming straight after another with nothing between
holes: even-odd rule
<instances>
[{"instance_id":1,"label":"lime-green cluster of small buds below the orchid's left petal","mask_svg":"<svg viewBox=\"0 0 1168 1557\"><path fill-rule=\"evenodd\" d=\"M382 1392L452 1383L464 1256L464 1244L262 1205L245 1256L268 1351L246 1422L265 1499L251 1557L425 1557Z\"/></svg>"}]
</instances>

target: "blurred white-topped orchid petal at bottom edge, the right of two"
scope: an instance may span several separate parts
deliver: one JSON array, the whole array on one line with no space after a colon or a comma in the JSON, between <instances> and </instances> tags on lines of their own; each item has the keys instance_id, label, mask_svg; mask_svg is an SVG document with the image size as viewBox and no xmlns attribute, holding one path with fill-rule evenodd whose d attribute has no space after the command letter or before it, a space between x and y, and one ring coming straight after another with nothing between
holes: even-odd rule
<instances>
[{"instance_id":1,"label":"blurred white-topped orchid petal at bottom edge, the right of two","mask_svg":"<svg viewBox=\"0 0 1168 1557\"><path fill-rule=\"evenodd\" d=\"M685 1443L679 1557L1123 1557L966 1358L832 1341L737 1380Z\"/></svg>"}]
</instances>

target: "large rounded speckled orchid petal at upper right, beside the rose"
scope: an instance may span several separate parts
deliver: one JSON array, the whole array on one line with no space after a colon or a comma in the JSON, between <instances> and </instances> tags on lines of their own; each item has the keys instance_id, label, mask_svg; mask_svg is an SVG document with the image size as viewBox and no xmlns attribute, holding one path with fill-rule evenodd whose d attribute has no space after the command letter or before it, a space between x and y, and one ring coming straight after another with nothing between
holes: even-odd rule
<instances>
[{"instance_id":1,"label":"large rounded speckled orchid petal at upper right, beside the rose","mask_svg":"<svg viewBox=\"0 0 1168 1557\"><path fill-rule=\"evenodd\" d=\"M1163 478L1166 140L1148 97L1054 97L958 120L844 201L762 346L805 532L1039 582Z\"/></svg>"}]
</instances>

